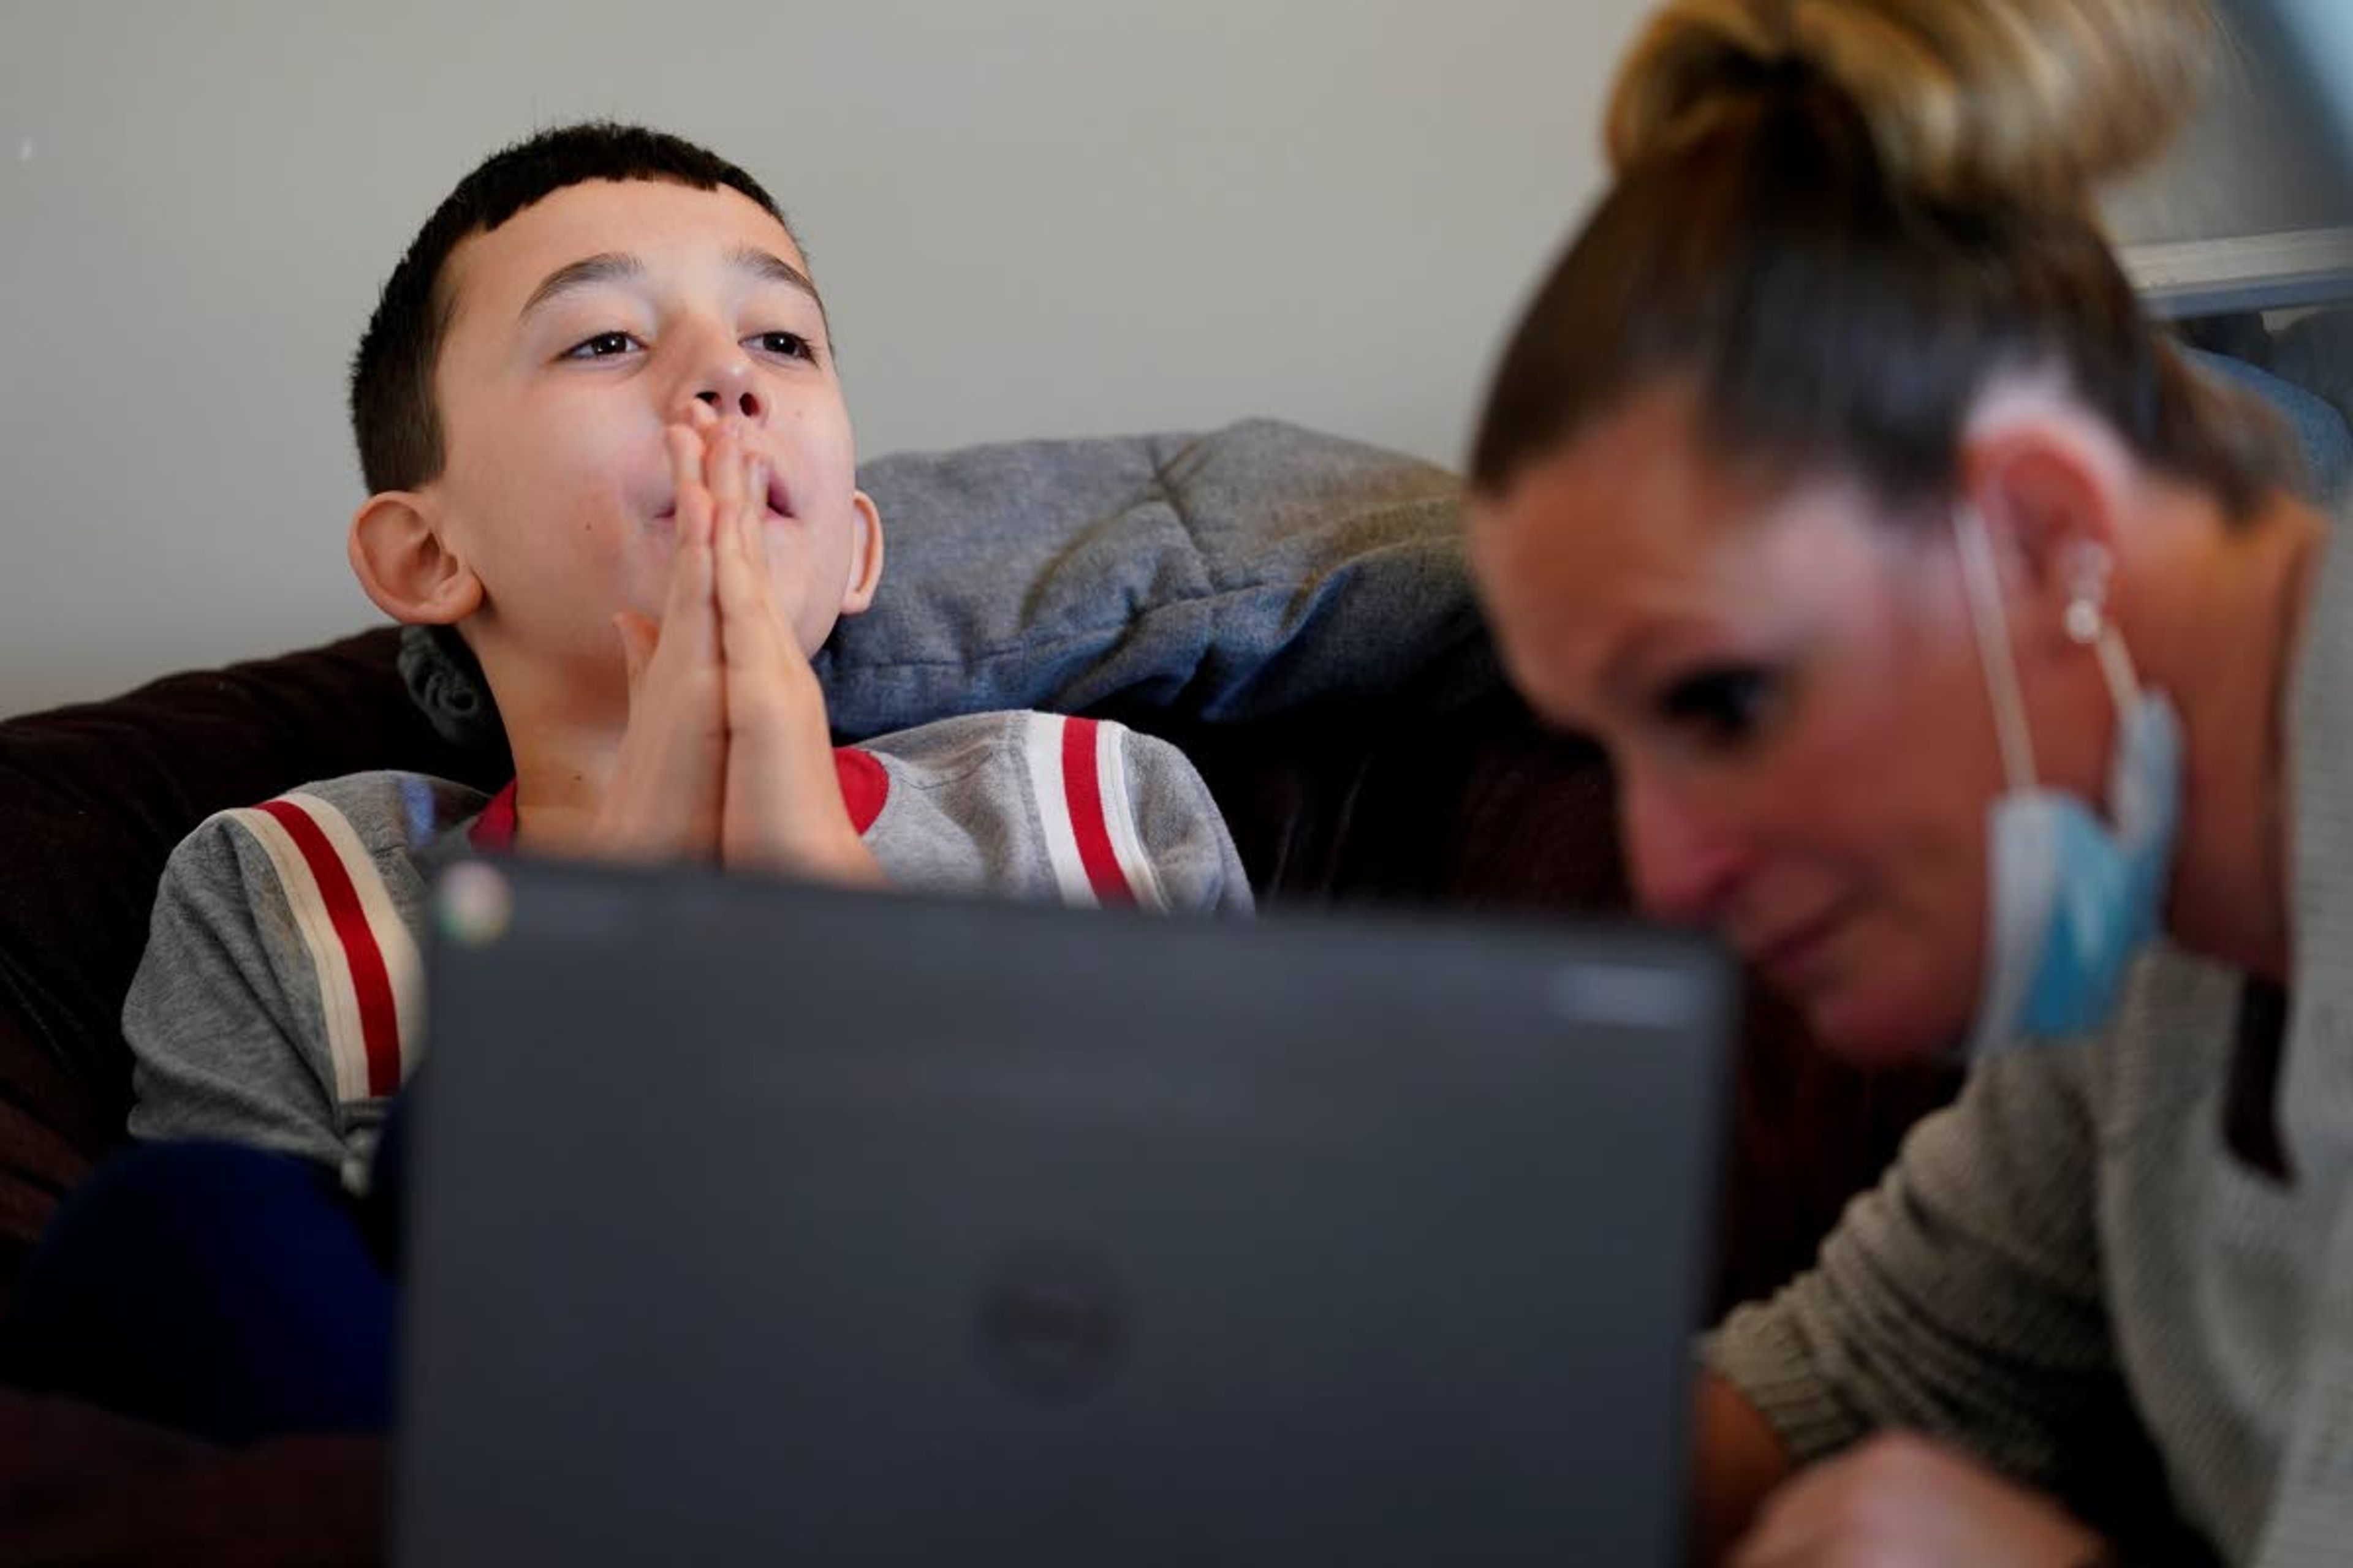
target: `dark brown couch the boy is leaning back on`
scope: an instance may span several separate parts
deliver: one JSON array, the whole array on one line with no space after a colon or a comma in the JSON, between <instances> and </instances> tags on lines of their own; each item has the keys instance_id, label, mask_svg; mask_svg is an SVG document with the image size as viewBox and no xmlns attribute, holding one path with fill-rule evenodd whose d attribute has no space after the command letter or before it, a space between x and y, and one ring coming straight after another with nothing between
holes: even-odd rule
<instances>
[{"instance_id":1,"label":"dark brown couch the boy is leaning back on","mask_svg":"<svg viewBox=\"0 0 2353 1568\"><path fill-rule=\"evenodd\" d=\"M169 849L207 813L301 780L402 766L496 783L412 708L391 630L111 703L0 724L0 1279L122 1138L118 1011ZM1327 703L1261 724L1167 724L1226 809L1268 907L1325 903L1617 912L1607 773L1504 691L1421 710ZM1753 1004L1729 1126L1715 1302L1802 1267L1939 1072L1864 1074ZM212 1453L0 1392L0 1561L372 1561L381 1448Z\"/></svg>"}]
</instances>

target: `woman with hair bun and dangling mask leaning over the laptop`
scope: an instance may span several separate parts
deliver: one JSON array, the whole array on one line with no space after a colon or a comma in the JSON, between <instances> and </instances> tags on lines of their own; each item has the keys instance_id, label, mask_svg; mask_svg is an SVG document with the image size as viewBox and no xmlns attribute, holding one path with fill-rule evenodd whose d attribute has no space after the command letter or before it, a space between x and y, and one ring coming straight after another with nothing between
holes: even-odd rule
<instances>
[{"instance_id":1,"label":"woman with hair bun and dangling mask leaning over the laptop","mask_svg":"<svg viewBox=\"0 0 2353 1568\"><path fill-rule=\"evenodd\" d=\"M1485 411L1482 597L1645 905L1838 1051L1979 1058L1706 1342L1739 1563L2353 1547L2353 562L2087 195L2209 47L1668 5Z\"/></svg>"}]
</instances>

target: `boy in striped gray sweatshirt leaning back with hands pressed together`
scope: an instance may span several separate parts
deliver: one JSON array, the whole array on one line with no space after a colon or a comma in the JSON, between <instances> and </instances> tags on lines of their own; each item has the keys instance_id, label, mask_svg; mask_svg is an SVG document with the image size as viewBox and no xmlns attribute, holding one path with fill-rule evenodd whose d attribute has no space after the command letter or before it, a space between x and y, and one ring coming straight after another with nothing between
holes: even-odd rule
<instances>
[{"instance_id":1,"label":"boy in striped gray sweatshirt leaning back with hands pressed together","mask_svg":"<svg viewBox=\"0 0 2353 1568\"><path fill-rule=\"evenodd\" d=\"M353 571L464 639L515 780L360 773L174 851L125 1004L132 1133L202 1143L75 1194L0 1347L231 1441L388 1408L386 1215L339 1185L367 1192L416 1065L438 863L1249 903L1200 778L1113 724L981 715L833 750L807 656L871 602L882 524L800 244L734 165L616 125L496 153L386 282L351 407Z\"/></svg>"}]
</instances>

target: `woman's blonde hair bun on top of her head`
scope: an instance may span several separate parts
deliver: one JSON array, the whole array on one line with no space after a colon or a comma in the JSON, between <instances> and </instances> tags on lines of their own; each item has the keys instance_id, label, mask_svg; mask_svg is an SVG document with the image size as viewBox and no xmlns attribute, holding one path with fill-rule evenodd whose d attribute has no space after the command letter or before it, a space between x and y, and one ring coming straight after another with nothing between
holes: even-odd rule
<instances>
[{"instance_id":1,"label":"woman's blonde hair bun on top of her head","mask_svg":"<svg viewBox=\"0 0 2353 1568\"><path fill-rule=\"evenodd\" d=\"M1948 205L2087 205L2205 89L2202 0L1671 0L1609 101L1619 172L1708 134L1784 73L1845 92L1887 176Z\"/></svg>"}]
</instances>

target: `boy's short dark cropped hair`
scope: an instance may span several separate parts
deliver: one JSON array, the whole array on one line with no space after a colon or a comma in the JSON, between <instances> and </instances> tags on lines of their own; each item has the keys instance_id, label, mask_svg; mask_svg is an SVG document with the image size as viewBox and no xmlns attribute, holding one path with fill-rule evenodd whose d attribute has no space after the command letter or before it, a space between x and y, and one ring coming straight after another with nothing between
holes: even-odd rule
<instances>
[{"instance_id":1,"label":"boy's short dark cropped hair","mask_svg":"<svg viewBox=\"0 0 2353 1568\"><path fill-rule=\"evenodd\" d=\"M760 202L793 233L774 197L718 153L642 125L588 120L539 132L485 158L456 183L409 252L384 280L351 360L351 430L360 440L360 475L369 494L416 489L442 470L440 409L433 367L456 301L442 289L449 252L466 235L489 233L569 186L598 179L664 179L696 190L727 186ZM793 237L800 244L800 237Z\"/></svg>"}]
</instances>

